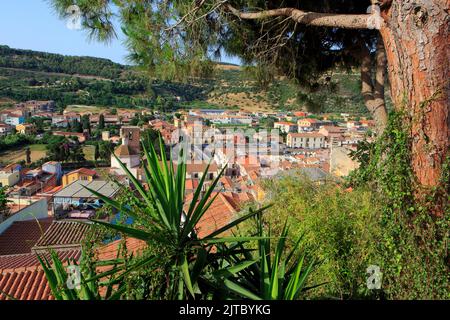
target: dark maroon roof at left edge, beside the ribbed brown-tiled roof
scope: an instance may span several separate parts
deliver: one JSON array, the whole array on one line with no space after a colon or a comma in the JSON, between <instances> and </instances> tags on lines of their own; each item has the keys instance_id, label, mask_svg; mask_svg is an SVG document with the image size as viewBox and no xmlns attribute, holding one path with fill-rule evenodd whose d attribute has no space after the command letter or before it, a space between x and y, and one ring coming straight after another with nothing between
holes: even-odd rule
<instances>
[{"instance_id":1,"label":"dark maroon roof at left edge, beside the ribbed brown-tiled roof","mask_svg":"<svg viewBox=\"0 0 450 320\"><path fill-rule=\"evenodd\" d=\"M15 221L0 234L0 256L31 253L31 247L50 227L52 219Z\"/></svg>"}]
</instances>

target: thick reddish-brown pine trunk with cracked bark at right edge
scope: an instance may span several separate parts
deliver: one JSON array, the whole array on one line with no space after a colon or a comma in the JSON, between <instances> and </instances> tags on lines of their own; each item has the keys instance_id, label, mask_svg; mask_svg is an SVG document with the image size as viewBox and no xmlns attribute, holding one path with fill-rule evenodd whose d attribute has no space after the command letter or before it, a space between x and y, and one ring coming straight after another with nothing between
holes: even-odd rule
<instances>
[{"instance_id":1,"label":"thick reddish-brown pine trunk with cracked bark at right edge","mask_svg":"<svg viewBox=\"0 0 450 320\"><path fill-rule=\"evenodd\" d=\"M394 105L410 118L417 182L437 186L449 156L450 0L393 0L382 12Z\"/></svg>"}]
</instances>

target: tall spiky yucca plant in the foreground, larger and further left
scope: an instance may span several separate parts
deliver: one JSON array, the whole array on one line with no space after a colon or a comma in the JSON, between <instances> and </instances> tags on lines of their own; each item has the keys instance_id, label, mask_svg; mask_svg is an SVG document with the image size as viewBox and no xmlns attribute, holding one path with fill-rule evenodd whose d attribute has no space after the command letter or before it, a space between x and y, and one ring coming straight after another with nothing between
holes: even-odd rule
<instances>
[{"instance_id":1,"label":"tall spiky yucca plant in the foreground, larger and further left","mask_svg":"<svg viewBox=\"0 0 450 320\"><path fill-rule=\"evenodd\" d=\"M165 296L169 299L208 298L210 292L207 290L211 288L201 290L198 279L203 273L211 272L214 268L211 266L211 263L216 261L211 258L211 255L216 254L213 250L214 246L218 243L242 243L258 239L257 237L219 237L219 235L261 213L265 208L247 213L223 228L199 238L196 226L218 196L218 194L213 196L213 192L225 168L201 196L209 168L209 165L207 166L192 201L185 211L185 156L183 153L180 154L181 162L175 170L172 159L169 161L166 159L161 138L160 158L152 144L149 144L148 148L145 144L142 145L147 160L143 170L148 188L144 188L116 157L135 189L131 198L132 202L138 204L137 206L133 208L86 188L106 204L126 216L133 217L135 225L115 225L101 220L93 220L93 222L124 235L144 240L150 246L162 248L158 255L149 258L151 263L146 265L152 265L155 269L165 268L167 281L161 283L161 286L165 286L167 292Z\"/></svg>"}]
</instances>

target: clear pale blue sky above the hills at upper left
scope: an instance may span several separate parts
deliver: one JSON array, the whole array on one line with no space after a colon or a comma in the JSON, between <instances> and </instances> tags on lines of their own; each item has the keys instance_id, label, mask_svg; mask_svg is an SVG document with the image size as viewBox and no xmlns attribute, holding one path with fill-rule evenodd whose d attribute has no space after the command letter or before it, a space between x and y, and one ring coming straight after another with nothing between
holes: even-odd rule
<instances>
[{"instance_id":1,"label":"clear pale blue sky above the hills at upper left","mask_svg":"<svg viewBox=\"0 0 450 320\"><path fill-rule=\"evenodd\" d=\"M89 41L83 30L67 27L46 0L0 0L0 44L16 49L45 51L75 56L107 58L126 64L124 38L110 44ZM239 64L236 57L222 57L223 62Z\"/></svg>"}]
</instances>

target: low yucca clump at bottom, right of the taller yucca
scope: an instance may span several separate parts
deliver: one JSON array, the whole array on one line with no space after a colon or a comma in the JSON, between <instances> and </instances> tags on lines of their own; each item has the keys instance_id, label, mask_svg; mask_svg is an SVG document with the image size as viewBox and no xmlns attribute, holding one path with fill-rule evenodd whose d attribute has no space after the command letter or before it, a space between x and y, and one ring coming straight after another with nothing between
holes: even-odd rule
<instances>
[{"instance_id":1,"label":"low yucca clump at bottom, right of the taller yucca","mask_svg":"<svg viewBox=\"0 0 450 320\"><path fill-rule=\"evenodd\" d=\"M307 290L323 285L306 287L308 277L317 263L306 253L299 252L302 236L288 250L286 240L289 227L286 222L271 253L273 237L270 231L265 236L261 214L256 219L258 248L246 249L241 243L232 247L222 245L220 251L233 252L224 259L231 272L216 272L213 279L205 281L220 289L224 296L231 294L255 300L297 300ZM239 254L235 254L237 252Z\"/></svg>"}]
</instances>

